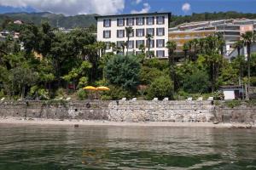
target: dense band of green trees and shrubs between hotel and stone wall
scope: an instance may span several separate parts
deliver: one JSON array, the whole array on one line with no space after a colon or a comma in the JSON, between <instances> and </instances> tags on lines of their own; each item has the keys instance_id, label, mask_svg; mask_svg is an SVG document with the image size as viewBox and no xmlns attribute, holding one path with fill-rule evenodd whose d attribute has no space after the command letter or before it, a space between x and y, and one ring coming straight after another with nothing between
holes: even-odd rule
<instances>
[{"instance_id":1,"label":"dense band of green trees and shrubs between hotel and stone wall","mask_svg":"<svg viewBox=\"0 0 256 170\"><path fill-rule=\"evenodd\" d=\"M111 89L94 94L100 99L223 99L220 85L237 84L239 79L255 84L256 55L250 54L247 62L243 56L229 62L223 58L224 40L219 34L186 43L184 61L177 65L177 44L172 41L166 42L168 59L160 60L148 55L145 47L140 47L141 54L125 54L127 43L121 49L111 43L112 52L106 53L107 44L96 42L88 29L63 33L47 22L19 29L20 40L7 37L0 42L1 98L88 99L92 94L83 88L92 85ZM253 42L249 38L244 37L237 48ZM121 51L123 55L115 54Z\"/></svg>"}]
</instances>

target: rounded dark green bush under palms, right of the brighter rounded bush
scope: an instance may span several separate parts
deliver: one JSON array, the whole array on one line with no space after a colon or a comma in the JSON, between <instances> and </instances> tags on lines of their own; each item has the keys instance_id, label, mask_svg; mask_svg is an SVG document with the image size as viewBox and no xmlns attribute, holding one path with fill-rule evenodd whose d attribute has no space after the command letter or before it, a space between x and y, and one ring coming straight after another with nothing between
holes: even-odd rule
<instances>
[{"instance_id":1,"label":"rounded dark green bush under palms, right of the brighter rounded bush","mask_svg":"<svg viewBox=\"0 0 256 170\"><path fill-rule=\"evenodd\" d=\"M206 71L195 71L184 76L183 89L190 93L207 93L210 89L210 81Z\"/></svg>"}]
</instances>

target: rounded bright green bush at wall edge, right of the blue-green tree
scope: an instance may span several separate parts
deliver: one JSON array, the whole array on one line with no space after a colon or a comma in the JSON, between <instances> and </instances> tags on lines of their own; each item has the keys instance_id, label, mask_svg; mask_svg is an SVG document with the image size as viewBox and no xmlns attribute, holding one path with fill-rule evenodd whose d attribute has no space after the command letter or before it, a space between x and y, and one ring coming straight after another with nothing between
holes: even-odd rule
<instances>
[{"instance_id":1,"label":"rounded bright green bush at wall edge, right of the blue-green tree","mask_svg":"<svg viewBox=\"0 0 256 170\"><path fill-rule=\"evenodd\" d=\"M147 99L164 99L166 97L173 99L173 83L170 77L158 77L151 83L147 92Z\"/></svg>"}]
</instances>

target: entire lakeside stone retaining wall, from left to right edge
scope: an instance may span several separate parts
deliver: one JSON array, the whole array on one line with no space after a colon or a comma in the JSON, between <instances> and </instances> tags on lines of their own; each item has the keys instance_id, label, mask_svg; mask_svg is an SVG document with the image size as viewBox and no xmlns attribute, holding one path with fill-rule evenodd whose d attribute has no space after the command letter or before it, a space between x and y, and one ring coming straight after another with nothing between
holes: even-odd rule
<instances>
[{"instance_id":1,"label":"entire lakeside stone retaining wall, from left to right edge","mask_svg":"<svg viewBox=\"0 0 256 170\"><path fill-rule=\"evenodd\" d=\"M256 107L211 101L27 101L0 103L0 117L112 122L255 122Z\"/></svg>"}]
</instances>

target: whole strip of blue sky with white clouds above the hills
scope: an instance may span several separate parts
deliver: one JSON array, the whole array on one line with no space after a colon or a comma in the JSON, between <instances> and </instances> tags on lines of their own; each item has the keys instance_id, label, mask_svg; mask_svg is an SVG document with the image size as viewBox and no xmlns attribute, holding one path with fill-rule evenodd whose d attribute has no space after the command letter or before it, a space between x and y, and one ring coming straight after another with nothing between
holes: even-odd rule
<instances>
[{"instance_id":1,"label":"whole strip of blue sky with white clouds above the hills","mask_svg":"<svg viewBox=\"0 0 256 170\"><path fill-rule=\"evenodd\" d=\"M0 13L135 14L171 12L185 15L237 11L256 13L256 0L0 0Z\"/></svg>"}]
</instances>

